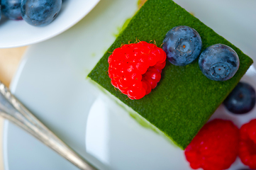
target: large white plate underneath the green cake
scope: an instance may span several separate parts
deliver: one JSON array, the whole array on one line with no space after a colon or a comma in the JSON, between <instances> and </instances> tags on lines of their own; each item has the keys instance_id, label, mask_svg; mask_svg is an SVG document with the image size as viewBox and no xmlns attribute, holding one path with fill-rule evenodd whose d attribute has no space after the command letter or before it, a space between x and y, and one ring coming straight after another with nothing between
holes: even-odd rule
<instances>
[{"instance_id":1,"label":"large white plate underneath the green cake","mask_svg":"<svg viewBox=\"0 0 256 170\"><path fill-rule=\"evenodd\" d=\"M256 23L252 22L256 18L256 1L176 1L256 60ZM13 79L11 91L99 169L186 170L189 164L181 149L141 126L85 78L115 40L113 34L118 33L136 8L137 0L101 0L67 32L31 46ZM243 81L256 88L255 67L250 68ZM230 119L240 126L256 118L256 108L247 115L236 116L221 106L212 118ZM8 121L4 130L6 170L76 169ZM243 164L238 159L230 169L240 167Z\"/></svg>"}]
</instances>

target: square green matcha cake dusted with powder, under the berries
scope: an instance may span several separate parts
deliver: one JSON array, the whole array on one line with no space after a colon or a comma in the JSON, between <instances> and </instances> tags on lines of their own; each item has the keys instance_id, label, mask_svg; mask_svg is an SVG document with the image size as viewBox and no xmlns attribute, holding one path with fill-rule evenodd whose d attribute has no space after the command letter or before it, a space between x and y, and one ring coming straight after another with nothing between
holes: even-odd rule
<instances>
[{"instance_id":1,"label":"square green matcha cake dusted with powder, under the berries","mask_svg":"<svg viewBox=\"0 0 256 170\"><path fill-rule=\"evenodd\" d=\"M183 67L167 61L157 87L145 97L130 100L116 90L106 74L108 57L111 55L109 52L135 40L155 40L160 47L166 33L175 26L194 28L201 36L201 52L206 47L218 43L232 47L240 60L240 67L235 76L227 81L213 81L201 72L198 59ZM189 145L252 64L252 59L238 47L171 0L148 0L107 51L89 77L182 149Z\"/></svg>"}]
</instances>

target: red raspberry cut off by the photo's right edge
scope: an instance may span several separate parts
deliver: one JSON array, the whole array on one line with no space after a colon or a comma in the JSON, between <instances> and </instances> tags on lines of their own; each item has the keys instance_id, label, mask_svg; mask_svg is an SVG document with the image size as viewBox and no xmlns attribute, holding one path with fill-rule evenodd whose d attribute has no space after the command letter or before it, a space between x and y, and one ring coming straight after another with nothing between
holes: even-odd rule
<instances>
[{"instance_id":1,"label":"red raspberry cut off by the photo's right edge","mask_svg":"<svg viewBox=\"0 0 256 170\"><path fill-rule=\"evenodd\" d=\"M256 169L256 119L240 128L239 157L250 169Z\"/></svg>"}]
</instances>

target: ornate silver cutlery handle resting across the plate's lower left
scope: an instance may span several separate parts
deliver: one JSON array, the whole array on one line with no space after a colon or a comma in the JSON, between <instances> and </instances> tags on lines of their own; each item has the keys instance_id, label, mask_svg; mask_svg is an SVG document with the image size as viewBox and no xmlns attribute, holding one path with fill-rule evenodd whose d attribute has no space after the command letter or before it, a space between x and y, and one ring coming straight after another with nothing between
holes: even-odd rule
<instances>
[{"instance_id":1,"label":"ornate silver cutlery handle resting across the plate's lower left","mask_svg":"<svg viewBox=\"0 0 256 170\"><path fill-rule=\"evenodd\" d=\"M94 166L68 147L59 137L46 128L0 81L0 115L23 128L45 145L55 150L69 162L83 170L95 170Z\"/></svg>"}]
</instances>

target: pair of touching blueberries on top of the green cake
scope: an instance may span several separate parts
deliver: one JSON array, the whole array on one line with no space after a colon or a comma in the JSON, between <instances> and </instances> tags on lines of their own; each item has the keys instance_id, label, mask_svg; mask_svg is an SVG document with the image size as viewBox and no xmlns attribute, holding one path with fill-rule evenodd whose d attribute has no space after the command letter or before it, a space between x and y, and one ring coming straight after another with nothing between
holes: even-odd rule
<instances>
[{"instance_id":1,"label":"pair of touching blueberries on top of the green cake","mask_svg":"<svg viewBox=\"0 0 256 170\"><path fill-rule=\"evenodd\" d=\"M177 26L168 31L162 49L167 59L174 65L190 64L201 52L202 42L199 33L188 26ZM201 72L208 79L226 81L238 71L239 57L227 45L216 44L207 47L199 57Z\"/></svg>"}]
</instances>

